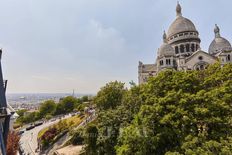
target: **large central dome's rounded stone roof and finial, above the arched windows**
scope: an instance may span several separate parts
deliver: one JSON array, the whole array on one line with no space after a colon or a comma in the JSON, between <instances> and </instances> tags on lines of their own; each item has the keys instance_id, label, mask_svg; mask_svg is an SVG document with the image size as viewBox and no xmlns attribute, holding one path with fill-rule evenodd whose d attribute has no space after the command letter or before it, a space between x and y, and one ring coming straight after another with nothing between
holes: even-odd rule
<instances>
[{"instance_id":1,"label":"large central dome's rounded stone roof and finial, above the arched windows","mask_svg":"<svg viewBox=\"0 0 232 155\"><path fill-rule=\"evenodd\" d=\"M171 24L171 26L168 29L168 38L180 32L186 32L186 31L197 32L196 27L193 24L193 22L182 16L181 6L179 3L177 4L177 7L176 7L176 16L177 18L175 19L175 21Z\"/></svg>"}]
</instances>

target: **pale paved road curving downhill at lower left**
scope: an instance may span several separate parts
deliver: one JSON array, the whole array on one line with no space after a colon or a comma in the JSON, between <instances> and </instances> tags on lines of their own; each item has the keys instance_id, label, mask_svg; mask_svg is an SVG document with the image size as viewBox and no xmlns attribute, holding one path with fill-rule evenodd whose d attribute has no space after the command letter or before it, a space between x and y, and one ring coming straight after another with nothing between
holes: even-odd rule
<instances>
[{"instance_id":1,"label":"pale paved road curving downhill at lower left","mask_svg":"<svg viewBox=\"0 0 232 155\"><path fill-rule=\"evenodd\" d=\"M71 115L66 115L65 117L63 117L62 119L71 117ZM20 144L21 144L21 148L24 150L25 155L38 155L37 152L35 152L36 148L38 147L38 143L37 143L37 136L40 130L42 130L43 128L46 128L50 125L53 125L55 123L58 123L60 119L57 119L56 121L49 121L46 122L40 126L37 126L29 131L25 131L21 138L20 138Z\"/></svg>"}]
</instances>

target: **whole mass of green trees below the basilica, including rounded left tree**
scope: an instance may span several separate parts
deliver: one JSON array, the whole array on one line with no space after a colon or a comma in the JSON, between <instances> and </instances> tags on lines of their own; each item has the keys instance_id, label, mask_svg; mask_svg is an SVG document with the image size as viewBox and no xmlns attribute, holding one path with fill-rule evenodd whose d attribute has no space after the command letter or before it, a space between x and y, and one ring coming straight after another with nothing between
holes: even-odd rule
<instances>
[{"instance_id":1,"label":"whole mass of green trees below the basilica, including rounded left tree","mask_svg":"<svg viewBox=\"0 0 232 155\"><path fill-rule=\"evenodd\" d=\"M232 64L214 64L203 71L166 70L129 90L123 83L111 82L94 101L100 110L90 129L97 134L85 137L86 152L232 152Z\"/></svg>"}]
</instances>

